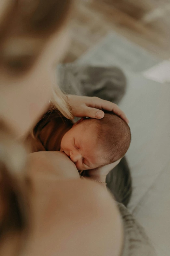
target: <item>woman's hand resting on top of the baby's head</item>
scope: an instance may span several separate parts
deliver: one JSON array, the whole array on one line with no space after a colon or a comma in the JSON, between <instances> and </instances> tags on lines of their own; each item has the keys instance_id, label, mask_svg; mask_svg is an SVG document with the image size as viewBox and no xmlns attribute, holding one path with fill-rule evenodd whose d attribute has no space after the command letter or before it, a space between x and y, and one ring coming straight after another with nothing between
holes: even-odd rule
<instances>
[{"instance_id":1,"label":"woman's hand resting on top of the baby's head","mask_svg":"<svg viewBox=\"0 0 170 256\"><path fill-rule=\"evenodd\" d=\"M77 95L67 95L68 102L72 108L72 113L77 117L88 116L92 118L101 119L105 113L102 111L113 111L115 114L120 116L126 123L129 123L126 115L120 108L115 104L107 100L100 99L98 97L87 97Z\"/></svg>"}]
</instances>

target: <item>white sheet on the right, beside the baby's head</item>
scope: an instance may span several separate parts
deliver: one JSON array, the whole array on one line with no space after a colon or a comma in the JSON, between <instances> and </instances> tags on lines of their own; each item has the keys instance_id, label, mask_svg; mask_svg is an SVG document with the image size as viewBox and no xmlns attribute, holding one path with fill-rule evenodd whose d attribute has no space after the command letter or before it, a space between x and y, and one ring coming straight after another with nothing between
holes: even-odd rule
<instances>
[{"instance_id":1,"label":"white sheet on the right, beside the baby's head","mask_svg":"<svg viewBox=\"0 0 170 256\"><path fill-rule=\"evenodd\" d=\"M127 94L120 104L130 120L127 159L133 177L129 205L159 256L170 253L170 84L126 72Z\"/></svg>"}]
</instances>

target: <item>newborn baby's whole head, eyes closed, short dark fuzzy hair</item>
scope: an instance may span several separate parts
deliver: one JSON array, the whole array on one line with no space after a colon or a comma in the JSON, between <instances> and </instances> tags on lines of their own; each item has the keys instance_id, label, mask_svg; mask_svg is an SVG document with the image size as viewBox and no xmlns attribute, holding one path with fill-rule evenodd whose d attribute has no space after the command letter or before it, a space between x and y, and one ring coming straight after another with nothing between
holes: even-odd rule
<instances>
[{"instance_id":1,"label":"newborn baby's whole head, eyes closed, short dark fuzzy hair","mask_svg":"<svg viewBox=\"0 0 170 256\"><path fill-rule=\"evenodd\" d=\"M105 113L102 119L86 118L73 125L62 138L61 151L82 171L116 162L130 142L128 124L113 113Z\"/></svg>"}]
</instances>

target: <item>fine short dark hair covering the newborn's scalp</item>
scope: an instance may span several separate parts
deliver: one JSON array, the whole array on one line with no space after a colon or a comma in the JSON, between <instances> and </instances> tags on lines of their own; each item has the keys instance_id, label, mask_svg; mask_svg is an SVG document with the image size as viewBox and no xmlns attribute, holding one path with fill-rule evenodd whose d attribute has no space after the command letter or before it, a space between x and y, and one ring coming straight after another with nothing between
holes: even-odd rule
<instances>
[{"instance_id":1,"label":"fine short dark hair covering the newborn's scalp","mask_svg":"<svg viewBox=\"0 0 170 256\"><path fill-rule=\"evenodd\" d=\"M106 112L102 119L86 118L84 125L89 123L97 134L97 145L102 148L105 164L122 158L131 143L131 131L128 124L112 112Z\"/></svg>"}]
</instances>

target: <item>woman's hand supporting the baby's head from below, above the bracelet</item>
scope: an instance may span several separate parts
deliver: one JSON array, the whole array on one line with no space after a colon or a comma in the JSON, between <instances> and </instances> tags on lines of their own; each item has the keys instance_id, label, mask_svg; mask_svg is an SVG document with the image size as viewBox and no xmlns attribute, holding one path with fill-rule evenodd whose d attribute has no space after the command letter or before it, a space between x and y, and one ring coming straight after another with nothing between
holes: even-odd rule
<instances>
[{"instance_id":1,"label":"woman's hand supporting the baby's head from below, above the bracelet","mask_svg":"<svg viewBox=\"0 0 170 256\"><path fill-rule=\"evenodd\" d=\"M121 159L120 159L121 160ZM88 177L90 177L91 179L94 180L98 180L98 181L102 181L102 182L106 182L106 176L107 174L116 167L116 165L118 165L118 163L120 163L120 160L114 162L114 163L110 163L107 165L104 165L102 167L98 167L92 170L88 170L87 171L87 175Z\"/></svg>"}]
</instances>

